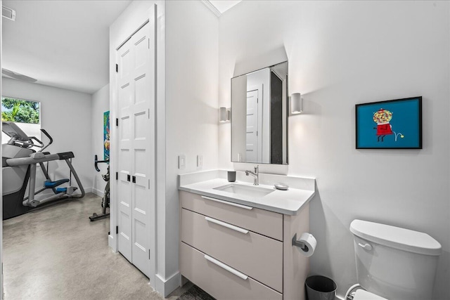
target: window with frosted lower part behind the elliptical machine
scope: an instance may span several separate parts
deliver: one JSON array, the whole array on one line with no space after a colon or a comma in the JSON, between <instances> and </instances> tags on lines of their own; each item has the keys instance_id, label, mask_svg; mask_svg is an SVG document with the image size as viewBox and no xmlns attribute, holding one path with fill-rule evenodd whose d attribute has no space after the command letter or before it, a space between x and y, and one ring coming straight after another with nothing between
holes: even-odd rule
<instances>
[{"instance_id":1,"label":"window with frosted lower part behind the elliptical machine","mask_svg":"<svg viewBox=\"0 0 450 300\"><path fill-rule=\"evenodd\" d=\"M1 121L15 122L27 136L41 139L41 103L11 97L1 97ZM1 142L9 137L1 133Z\"/></svg>"}]
</instances>

